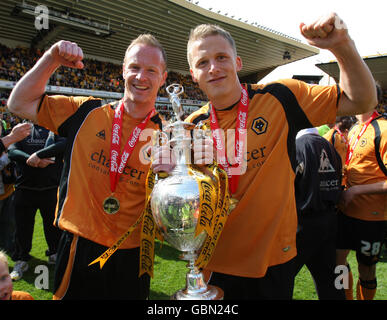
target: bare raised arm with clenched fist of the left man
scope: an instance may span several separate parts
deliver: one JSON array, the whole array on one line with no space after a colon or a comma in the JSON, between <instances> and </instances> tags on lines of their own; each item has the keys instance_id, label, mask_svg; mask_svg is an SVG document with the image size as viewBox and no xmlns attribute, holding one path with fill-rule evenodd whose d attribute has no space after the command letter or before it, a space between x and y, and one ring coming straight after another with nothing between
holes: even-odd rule
<instances>
[{"instance_id":1,"label":"bare raised arm with clenched fist of the left man","mask_svg":"<svg viewBox=\"0 0 387 320\"><path fill-rule=\"evenodd\" d=\"M60 66L83 68L83 52L77 44L59 41L16 84L8 99L9 110L24 119L37 121L37 111L46 84Z\"/></svg>"}]
</instances>

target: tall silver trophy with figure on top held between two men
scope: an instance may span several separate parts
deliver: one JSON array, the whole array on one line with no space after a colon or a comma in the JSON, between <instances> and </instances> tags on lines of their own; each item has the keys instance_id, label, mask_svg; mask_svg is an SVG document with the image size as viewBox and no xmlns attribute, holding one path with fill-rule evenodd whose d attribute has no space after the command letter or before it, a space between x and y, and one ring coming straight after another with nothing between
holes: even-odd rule
<instances>
[{"instance_id":1,"label":"tall silver trophy with figure on top held between two men","mask_svg":"<svg viewBox=\"0 0 387 320\"><path fill-rule=\"evenodd\" d=\"M191 132L187 128L193 128L194 125L181 119L183 109L178 96L184 92L184 88L173 84L167 87L167 92L177 119L166 128L172 130L172 139L168 143L173 147L176 166L167 178L155 183L151 194L151 209L164 239L183 252L181 259L188 261L189 269L186 287L177 291L171 299L220 300L223 299L223 290L207 285L203 274L195 266L197 253L207 234L203 231L195 237L200 194L197 181L188 174L187 168L191 158ZM156 140L159 140L157 135Z\"/></svg>"}]
</instances>

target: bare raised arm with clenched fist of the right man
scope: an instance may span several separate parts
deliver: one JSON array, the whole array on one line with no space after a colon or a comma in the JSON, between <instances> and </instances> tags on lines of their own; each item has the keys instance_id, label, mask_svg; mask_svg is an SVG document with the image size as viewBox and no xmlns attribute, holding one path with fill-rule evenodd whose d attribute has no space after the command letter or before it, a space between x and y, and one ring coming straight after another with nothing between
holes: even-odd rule
<instances>
[{"instance_id":1,"label":"bare raised arm with clenched fist of the right man","mask_svg":"<svg viewBox=\"0 0 387 320\"><path fill-rule=\"evenodd\" d=\"M331 13L310 25L301 23L300 30L310 45L331 51L337 59L344 91L337 114L372 111L377 105L375 80L337 14Z\"/></svg>"}]
</instances>

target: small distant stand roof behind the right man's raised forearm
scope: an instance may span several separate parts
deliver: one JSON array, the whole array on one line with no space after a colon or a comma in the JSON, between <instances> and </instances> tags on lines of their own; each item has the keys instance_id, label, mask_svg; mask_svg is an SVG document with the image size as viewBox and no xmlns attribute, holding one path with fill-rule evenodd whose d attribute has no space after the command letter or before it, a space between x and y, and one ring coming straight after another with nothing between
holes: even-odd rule
<instances>
[{"instance_id":1,"label":"small distant stand roof behind the right man's raised forearm","mask_svg":"<svg viewBox=\"0 0 387 320\"><path fill-rule=\"evenodd\" d=\"M363 57L363 60L371 70L374 79L379 82L383 91L387 91L387 55ZM316 66L329 74L336 82L339 82L340 71L337 61L318 63Z\"/></svg>"}]
</instances>

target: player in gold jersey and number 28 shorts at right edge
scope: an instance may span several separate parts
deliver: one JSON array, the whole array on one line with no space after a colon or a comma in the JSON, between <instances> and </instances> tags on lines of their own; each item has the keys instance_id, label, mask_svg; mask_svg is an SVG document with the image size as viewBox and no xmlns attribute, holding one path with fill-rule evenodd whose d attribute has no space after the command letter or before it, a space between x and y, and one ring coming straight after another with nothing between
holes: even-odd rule
<instances>
[{"instance_id":1,"label":"player in gold jersey and number 28 shorts at right edge","mask_svg":"<svg viewBox=\"0 0 387 320\"><path fill-rule=\"evenodd\" d=\"M376 86L378 101L382 99ZM353 299L353 275L347 263L356 251L358 300L372 300L377 289L376 264L386 235L387 221L387 119L373 110L357 115L348 134L345 162L346 188L338 215L337 264L348 267L348 300Z\"/></svg>"}]
</instances>

